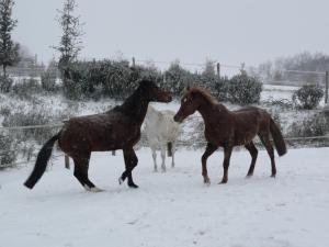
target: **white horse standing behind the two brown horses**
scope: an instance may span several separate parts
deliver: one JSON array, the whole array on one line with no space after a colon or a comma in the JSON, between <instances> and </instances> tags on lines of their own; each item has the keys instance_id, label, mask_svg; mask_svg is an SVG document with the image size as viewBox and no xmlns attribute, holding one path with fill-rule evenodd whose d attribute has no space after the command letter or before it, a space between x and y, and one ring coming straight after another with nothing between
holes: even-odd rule
<instances>
[{"instance_id":1,"label":"white horse standing behind the two brown horses","mask_svg":"<svg viewBox=\"0 0 329 247\"><path fill-rule=\"evenodd\" d=\"M166 148L168 148L168 156L172 157L171 167L174 167L175 142L180 131L180 125L173 121L174 114L172 111L157 111L151 105L148 105L145 117L145 133L152 151L155 171L158 171L157 148L161 150L162 171L166 172Z\"/></svg>"}]
</instances>

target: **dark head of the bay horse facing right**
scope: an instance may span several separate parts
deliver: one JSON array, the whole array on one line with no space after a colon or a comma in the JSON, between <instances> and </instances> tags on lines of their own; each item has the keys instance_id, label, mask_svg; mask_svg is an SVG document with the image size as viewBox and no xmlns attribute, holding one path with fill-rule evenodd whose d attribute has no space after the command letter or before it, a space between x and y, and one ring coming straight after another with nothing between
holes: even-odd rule
<instances>
[{"instance_id":1,"label":"dark head of the bay horse facing right","mask_svg":"<svg viewBox=\"0 0 329 247\"><path fill-rule=\"evenodd\" d=\"M141 80L139 82L139 88L143 91L143 94L146 96L149 101L168 103L172 100L172 97L169 92L166 92L162 89L160 89L151 80Z\"/></svg>"}]
</instances>

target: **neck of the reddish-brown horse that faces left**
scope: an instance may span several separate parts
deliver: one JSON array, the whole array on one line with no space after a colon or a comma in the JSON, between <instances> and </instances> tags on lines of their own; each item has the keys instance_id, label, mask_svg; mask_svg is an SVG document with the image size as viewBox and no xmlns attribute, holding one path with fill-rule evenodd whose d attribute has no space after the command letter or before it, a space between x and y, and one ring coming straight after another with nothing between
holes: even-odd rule
<instances>
[{"instance_id":1,"label":"neck of the reddish-brown horse that faces left","mask_svg":"<svg viewBox=\"0 0 329 247\"><path fill-rule=\"evenodd\" d=\"M212 124L212 120L214 120L214 114L216 113L219 113L222 116L229 114L229 111L223 104L211 102L209 100L204 98L201 101L197 111L202 115L205 124Z\"/></svg>"}]
</instances>

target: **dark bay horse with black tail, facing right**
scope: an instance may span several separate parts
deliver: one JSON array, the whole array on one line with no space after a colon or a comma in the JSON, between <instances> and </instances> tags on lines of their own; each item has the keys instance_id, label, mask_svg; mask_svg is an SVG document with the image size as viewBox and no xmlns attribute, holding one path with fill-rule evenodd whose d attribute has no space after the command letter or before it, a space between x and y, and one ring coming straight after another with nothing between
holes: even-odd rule
<instances>
[{"instance_id":1,"label":"dark bay horse with black tail, facing right","mask_svg":"<svg viewBox=\"0 0 329 247\"><path fill-rule=\"evenodd\" d=\"M58 139L60 149L75 161L75 177L89 191L99 189L88 178L91 151L123 149L125 171L122 183L128 178L128 186L138 188L132 176L138 159L133 149L140 138L140 125L150 101L170 102L171 96L159 89L152 81L144 80L126 101L102 114L70 119L60 132L52 137L39 150L32 175L24 183L32 189L44 173L52 155L54 143Z\"/></svg>"}]
</instances>

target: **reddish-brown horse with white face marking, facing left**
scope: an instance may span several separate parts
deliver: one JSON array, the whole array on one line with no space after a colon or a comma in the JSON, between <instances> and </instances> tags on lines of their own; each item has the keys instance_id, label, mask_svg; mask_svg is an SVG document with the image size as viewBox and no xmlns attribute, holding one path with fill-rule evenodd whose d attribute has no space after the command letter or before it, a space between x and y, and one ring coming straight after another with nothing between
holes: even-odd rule
<instances>
[{"instance_id":1,"label":"reddish-brown horse with white face marking, facing left","mask_svg":"<svg viewBox=\"0 0 329 247\"><path fill-rule=\"evenodd\" d=\"M280 128L271 115L262 109L247 106L238 111L229 111L223 104L213 100L209 93L198 88L188 88L181 99L181 108L174 115L174 121L182 122L186 116L198 111L205 124L206 150L202 156L202 176L209 183L207 175L207 158L218 148L224 147L224 176L222 183L227 182L229 159L234 146L243 145L251 155L251 165L247 177L253 175L258 150L252 139L258 135L265 146L272 165L272 177L276 175L274 150L270 142L273 137L277 154L286 154L286 146Z\"/></svg>"}]
</instances>

